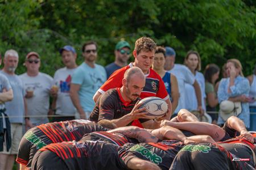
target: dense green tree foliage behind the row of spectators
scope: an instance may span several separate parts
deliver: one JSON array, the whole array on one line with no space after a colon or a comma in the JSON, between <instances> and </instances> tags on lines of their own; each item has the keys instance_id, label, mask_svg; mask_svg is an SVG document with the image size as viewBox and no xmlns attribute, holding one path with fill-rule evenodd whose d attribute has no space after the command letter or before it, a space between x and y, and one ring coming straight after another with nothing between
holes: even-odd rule
<instances>
[{"instance_id":1,"label":"dense green tree foliage behind the row of spectators","mask_svg":"<svg viewBox=\"0 0 256 170\"><path fill-rule=\"evenodd\" d=\"M97 62L106 65L114 61L119 40L133 46L141 36L172 46L179 63L191 49L200 53L203 68L238 58L248 75L256 63L256 10L251 0L6 0L0 1L0 11L0 52L18 51L18 74L26 71L22 63L31 50L42 57L41 71L53 75L63 67L61 46L75 46L81 63L82 44L95 40Z\"/></svg>"}]
</instances>

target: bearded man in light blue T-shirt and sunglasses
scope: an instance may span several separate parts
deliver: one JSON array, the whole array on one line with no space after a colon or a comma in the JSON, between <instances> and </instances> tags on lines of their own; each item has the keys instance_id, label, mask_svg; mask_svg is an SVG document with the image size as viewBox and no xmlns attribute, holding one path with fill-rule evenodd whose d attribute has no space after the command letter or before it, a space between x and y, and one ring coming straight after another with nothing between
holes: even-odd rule
<instances>
[{"instance_id":1,"label":"bearded man in light blue T-shirt and sunglasses","mask_svg":"<svg viewBox=\"0 0 256 170\"><path fill-rule=\"evenodd\" d=\"M106 81L106 71L95 63L97 59L97 44L86 42L82 46L82 63L72 75L71 100L80 114L80 118L87 119L94 108L93 95Z\"/></svg>"}]
</instances>

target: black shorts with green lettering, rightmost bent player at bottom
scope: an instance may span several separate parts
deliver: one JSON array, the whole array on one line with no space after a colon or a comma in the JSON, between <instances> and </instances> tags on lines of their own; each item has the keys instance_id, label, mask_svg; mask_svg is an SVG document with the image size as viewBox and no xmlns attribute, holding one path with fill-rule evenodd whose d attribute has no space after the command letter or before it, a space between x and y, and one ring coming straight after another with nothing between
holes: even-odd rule
<instances>
[{"instance_id":1,"label":"black shorts with green lettering, rightmost bent player at bottom","mask_svg":"<svg viewBox=\"0 0 256 170\"><path fill-rule=\"evenodd\" d=\"M176 155L170 169L253 169L245 162L233 161L224 148L212 143L187 145Z\"/></svg>"}]
</instances>

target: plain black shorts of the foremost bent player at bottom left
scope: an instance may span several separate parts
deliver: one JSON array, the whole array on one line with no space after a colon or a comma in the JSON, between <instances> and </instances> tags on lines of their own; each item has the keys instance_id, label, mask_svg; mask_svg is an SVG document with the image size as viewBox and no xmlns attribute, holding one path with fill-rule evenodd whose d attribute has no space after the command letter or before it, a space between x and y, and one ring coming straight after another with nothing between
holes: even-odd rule
<instances>
[{"instance_id":1,"label":"plain black shorts of the foremost bent player at bottom left","mask_svg":"<svg viewBox=\"0 0 256 170\"><path fill-rule=\"evenodd\" d=\"M68 169L65 162L52 151L38 151L31 163L31 169Z\"/></svg>"}]
</instances>

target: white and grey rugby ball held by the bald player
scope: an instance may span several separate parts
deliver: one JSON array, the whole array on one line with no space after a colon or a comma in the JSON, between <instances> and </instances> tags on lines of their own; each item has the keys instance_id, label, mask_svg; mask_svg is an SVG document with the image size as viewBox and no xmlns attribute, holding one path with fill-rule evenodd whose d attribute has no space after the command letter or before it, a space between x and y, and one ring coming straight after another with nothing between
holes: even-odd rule
<instances>
[{"instance_id":1,"label":"white and grey rugby ball held by the bald player","mask_svg":"<svg viewBox=\"0 0 256 170\"><path fill-rule=\"evenodd\" d=\"M168 104L159 97L146 97L139 101L140 108L146 108L148 116L162 117L168 111Z\"/></svg>"}]
</instances>

